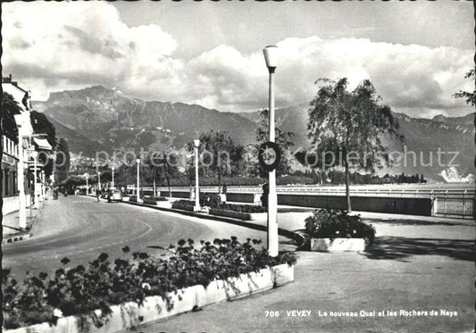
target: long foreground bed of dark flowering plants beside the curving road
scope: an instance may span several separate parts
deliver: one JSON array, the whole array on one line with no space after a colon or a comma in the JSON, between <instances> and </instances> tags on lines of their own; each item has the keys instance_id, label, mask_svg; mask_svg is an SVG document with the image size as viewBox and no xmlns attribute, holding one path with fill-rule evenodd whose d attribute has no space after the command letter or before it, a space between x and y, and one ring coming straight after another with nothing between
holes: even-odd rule
<instances>
[{"instance_id":1,"label":"long foreground bed of dark flowering plants beside the curving road","mask_svg":"<svg viewBox=\"0 0 476 333\"><path fill-rule=\"evenodd\" d=\"M290 253L270 257L265 249L255 248L260 243L249 238L239 243L236 237L231 237L215 239L213 244L201 241L200 246L194 247L193 240L188 239L169 247L168 260L134 253L127 259L116 259L113 264L107 254L100 254L87 268L82 265L61 268L50 279L46 273L29 275L21 286L10 277L9 271L3 271L4 328L42 322L54 324L58 318L71 315L79 316L79 323L92 322L100 327L117 310L112 305L127 302L141 305L147 296L162 299L155 312L173 313L176 303L182 306L178 304L180 289L206 288L220 284L217 280L230 281L242 274L296 262ZM123 251L128 253L129 248L126 246ZM62 262L66 265L69 260L63 258ZM231 281L238 283L239 279Z\"/></svg>"}]
</instances>

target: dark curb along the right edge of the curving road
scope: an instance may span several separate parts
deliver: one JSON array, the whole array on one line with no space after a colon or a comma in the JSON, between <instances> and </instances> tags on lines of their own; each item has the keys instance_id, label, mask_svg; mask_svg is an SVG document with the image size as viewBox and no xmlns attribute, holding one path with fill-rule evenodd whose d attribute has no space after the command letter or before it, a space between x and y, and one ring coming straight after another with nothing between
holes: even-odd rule
<instances>
[{"instance_id":1,"label":"dark curb along the right edge of the curving road","mask_svg":"<svg viewBox=\"0 0 476 333\"><path fill-rule=\"evenodd\" d=\"M235 225L238 225L238 226L241 226L241 227L246 227L246 228L249 228L249 229L261 230L261 231L266 231L267 230L266 226L262 226L262 225L259 225L259 224L246 222L246 221L242 221L242 220L238 220L238 219L233 219L233 218L229 218L229 217L210 215L210 214L206 214L206 213L203 213L203 212L189 212L189 211L183 211L183 210L175 209L175 208L159 207L159 206L156 206L156 205L153 205L153 204L138 204L138 203L125 202L125 201L121 201L121 203L123 203L123 204L132 204L132 205L136 205L136 206L139 206L139 207L148 207L148 208L152 208L152 209L155 209L157 211L163 211L163 212L176 212L176 213L180 213L182 215L197 217L199 219L220 221L220 222L235 224ZM296 232L289 231L287 229L280 229L279 228L278 229L278 235L288 237L288 238L291 238L291 239L295 240L297 242L297 248L300 248L301 246L304 246L304 244L305 244L305 237L303 237L300 234L297 234Z\"/></svg>"}]
</instances>

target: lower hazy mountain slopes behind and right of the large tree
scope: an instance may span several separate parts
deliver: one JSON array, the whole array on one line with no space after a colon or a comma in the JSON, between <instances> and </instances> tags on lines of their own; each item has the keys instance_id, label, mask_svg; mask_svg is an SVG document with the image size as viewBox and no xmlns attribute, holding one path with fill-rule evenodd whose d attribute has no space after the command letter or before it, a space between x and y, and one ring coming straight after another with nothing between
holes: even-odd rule
<instances>
[{"instance_id":1,"label":"lower hazy mountain slopes behind and right of the large tree","mask_svg":"<svg viewBox=\"0 0 476 333\"><path fill-rule=\"evenodd\" d=\"M276 127L281 130L295 133L295 147L309 146L307 138L308 109L306 105L288 107L276 110ZM258 121L258 112L239 113L252 121ZM453 164L457 164L457 170L463 175L475 173L473 167L476 154L474 146L474 114L470 113L463 117L445 117L439 115L433 119L412 118L403 113L394 113L400 124L400 133L405 141L400 143L395 139L386 139L389 151L403 151L406 146L407 163L405 165L384 168L379 174L424 174L428 179L444 181L441 172L446 170L443 164L451 162L453 154L458 152ZM438 147L440 148L441 163L438 163ZM416 163L413 163L413 153L416 154ZM431 155L431 156L430 156ZM431 165L429 164L432 160ZM421 161L422 160L422 161ZM403 163L401 163L403 164ZM423 166L424 165L424 166ZM471 177L470 177L471 179Z\"/></svg>"}]
</instances>

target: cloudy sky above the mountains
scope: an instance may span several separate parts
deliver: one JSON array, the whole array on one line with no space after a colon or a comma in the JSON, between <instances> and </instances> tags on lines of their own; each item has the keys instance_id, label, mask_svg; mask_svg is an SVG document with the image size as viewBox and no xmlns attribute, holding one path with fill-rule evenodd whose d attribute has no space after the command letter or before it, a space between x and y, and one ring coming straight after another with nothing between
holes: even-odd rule
<instances>
[{"instance_id":1,"label":"cloudy sky above the mountains","mask_svg":"<svg viewBox=\"0 0 476 333\"><path fill-rule=\"evenodd\" d=\"M475 53L471 1L13 2L2 4L3 75L34 100L94 85L222 112L267 107L263 47L278 46L277 107L309 104L320 78L371 79L396 112L473 108L452 95Z\"/></svg>"}]
</instances>

